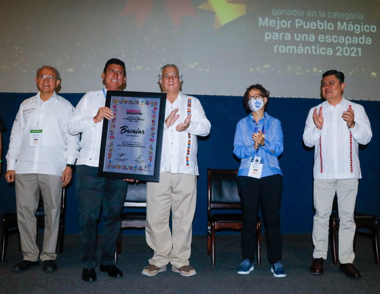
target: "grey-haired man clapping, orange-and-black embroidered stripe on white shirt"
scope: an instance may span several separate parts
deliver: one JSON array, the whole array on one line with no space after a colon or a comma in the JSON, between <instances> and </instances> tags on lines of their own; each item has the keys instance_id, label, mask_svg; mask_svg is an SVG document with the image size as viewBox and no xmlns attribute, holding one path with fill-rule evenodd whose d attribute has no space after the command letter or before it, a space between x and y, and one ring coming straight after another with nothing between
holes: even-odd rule
<instances>
[{"instance_id":1,"label":"grey-haired man clapping, orange-and-black embroidered stripe on white shirt","mask_svg":"<svg viewBox=\"0 0 380 294\"><path fill-rule=\"evenodd\" d=\"M165 125L161 149L160 181L147 182L146 240L154 250L143 275L154 276L172 270L193 276L191 253L192 222L196 207L198 149L196 136L207 136L211 124L198 99L179 90L182 73L174 64L161 68L158 80L166 93ZM172 212L173 234L169 228Z\"/></svg>"}]
</instances>

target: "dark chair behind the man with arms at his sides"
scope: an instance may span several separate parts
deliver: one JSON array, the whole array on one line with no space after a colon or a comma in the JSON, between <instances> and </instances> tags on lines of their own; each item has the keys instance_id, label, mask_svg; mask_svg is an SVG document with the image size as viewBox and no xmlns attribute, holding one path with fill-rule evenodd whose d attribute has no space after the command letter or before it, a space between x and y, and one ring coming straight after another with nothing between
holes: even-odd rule
<instances>
[{"instance_id":1,"label":"dark chair behind the man with arms at his sides","mask_svg":"<svg viewBox=\"0 0 380 294\"><path fill-rule=\"evenodd\" d=\"M40 200L38 201L38 209L35 213L37 219L37 227L43 229L45 227L45 213L44 213L44 202L42 200L42 195L40 192ZM65 210L66 210L66 188L62 188L62 198L61 198L61 211L59 217L59 230L58 230L58 244L59 253L63 253L63 237L65 235ZM17 225L17 214L16 213L3 213L2 221L2 243L1 243L1 256L0 261L5 261L6 246L8 244L8 235L19 232ZM21 251L21 249L20 249Z\"/></svg>"}]
</instances>

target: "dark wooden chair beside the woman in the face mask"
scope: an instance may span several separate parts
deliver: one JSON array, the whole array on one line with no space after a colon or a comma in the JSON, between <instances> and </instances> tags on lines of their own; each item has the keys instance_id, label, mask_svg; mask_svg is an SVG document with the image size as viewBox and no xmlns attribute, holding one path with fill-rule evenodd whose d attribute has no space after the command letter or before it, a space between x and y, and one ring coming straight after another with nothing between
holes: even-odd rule
<instances>
[{"instance_id":1,"label":"dark wooden chair beside the woman in the face mask","mask_svg":"<svg viewBox=\"0 0 380 294\"><path fill-rule=\"evenodd\" d=\"M238 170L207 169L207 255L215 265L215 231L241 230L243 215L237 194L236 176ZM215 210L227 212L214 213ZM230 210L230 211L228 211ZM233 211L231 211L233 210ZM261 265L261 219L257 218L257 264Z\"/></svg>"}]
</instances>

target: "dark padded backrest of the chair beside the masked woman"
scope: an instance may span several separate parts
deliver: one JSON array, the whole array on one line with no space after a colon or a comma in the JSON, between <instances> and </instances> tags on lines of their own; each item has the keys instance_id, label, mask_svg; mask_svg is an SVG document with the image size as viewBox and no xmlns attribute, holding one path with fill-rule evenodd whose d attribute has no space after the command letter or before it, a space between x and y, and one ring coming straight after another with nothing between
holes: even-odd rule
<instances>
[{"instance_id":1,"label":"dark padded backrest of the chair beside the masked woman","mask_svg":"<svg viewBox=\"0 0 380 294\"><path fill-rule=\"evenodd\" d=\"M234 169L207 169L208 213L212 208L241 208Z\"/></svg>"}]
</instances>

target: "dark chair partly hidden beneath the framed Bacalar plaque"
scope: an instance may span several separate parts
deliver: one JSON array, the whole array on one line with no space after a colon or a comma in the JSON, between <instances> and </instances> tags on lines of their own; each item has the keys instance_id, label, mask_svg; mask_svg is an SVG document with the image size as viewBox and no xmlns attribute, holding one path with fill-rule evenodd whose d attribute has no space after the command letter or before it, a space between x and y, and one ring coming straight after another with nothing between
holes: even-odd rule
<instances>
[{"instance_id":1,"label":"dark chair partly hidden beneath the framed Bacalar plaque","mask_svg":"<svg viewBox=\"0 0 380 294\"><path fill-rule=\"evenodd\" d=\"M123 229L145 229L146 225L146 182L139 181L128 183L128 191L125 196L124 208L120 215L121 229L119 238L117 238L115 263L117 263L117 254L121 253L121 239Z\"/></svg>"}]
</instances>

